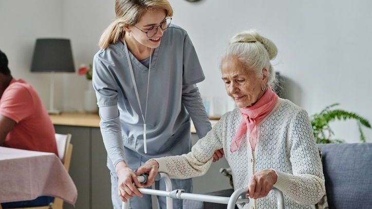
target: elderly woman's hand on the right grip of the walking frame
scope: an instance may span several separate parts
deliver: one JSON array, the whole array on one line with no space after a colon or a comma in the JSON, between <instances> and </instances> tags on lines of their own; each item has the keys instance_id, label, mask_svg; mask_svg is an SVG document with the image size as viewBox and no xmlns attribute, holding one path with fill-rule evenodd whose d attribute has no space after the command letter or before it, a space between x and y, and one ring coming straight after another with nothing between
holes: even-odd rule
<instances>
[{"instance_id":1,"label":"elderly woman's hand on the right grip of the walking frame","mask_svg":"<svg viewBox=\"0 0 372 209\"><path fill-rule=\"evenodd\" d=\"M249 193L246 197L253 199L263 198L269 194L276 183L277 175L274 170L266 169L254 174L249 181Z\"/></svg>"}]
</instances>

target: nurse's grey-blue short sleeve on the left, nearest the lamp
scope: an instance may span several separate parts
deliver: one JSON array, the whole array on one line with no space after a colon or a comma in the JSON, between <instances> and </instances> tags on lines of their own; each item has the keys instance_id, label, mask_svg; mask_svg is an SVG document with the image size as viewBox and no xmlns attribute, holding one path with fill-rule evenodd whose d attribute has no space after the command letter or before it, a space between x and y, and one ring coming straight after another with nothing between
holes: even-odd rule
<instances>
[{"instance_id":1,"label":"nurse's grey-blue short sleeve on the left, nearest the lamp","mask_svg":"<svg viewBox=\"0 0 372 209\"><path fill-rule=\"evenodd\" d=\"M93 61L93 88L96 91L98 107L116 106L118 91L110 71L96 55Z\"/></svg>"}]
</instances>

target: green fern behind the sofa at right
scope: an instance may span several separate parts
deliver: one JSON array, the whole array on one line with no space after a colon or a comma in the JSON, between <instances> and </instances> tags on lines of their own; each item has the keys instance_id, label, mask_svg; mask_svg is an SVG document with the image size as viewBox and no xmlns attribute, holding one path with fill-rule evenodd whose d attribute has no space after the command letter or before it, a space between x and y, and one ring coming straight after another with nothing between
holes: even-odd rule
<instances>
[{"instance_id":1,"label":"green fern behind the sofa at right","mask_svg":"<svg viewBox=\"0 0 372 209\"><path fill-rule=\"evenodd\" d=\"M357 115L354 112L348 112L341 109L332 109L339 104L331 104L325 107L320 113L315 113L311 117L311 126L313 129L313 134L317 143L343 143L344 140L331 139L334 132L329 126L329 122L334 120L349 120L354 119L357 121L358 131L360 136L360 141L365 142L365 136L363 134L362 126L371 128L369 122Z\"/></svg>"}]
</instances>

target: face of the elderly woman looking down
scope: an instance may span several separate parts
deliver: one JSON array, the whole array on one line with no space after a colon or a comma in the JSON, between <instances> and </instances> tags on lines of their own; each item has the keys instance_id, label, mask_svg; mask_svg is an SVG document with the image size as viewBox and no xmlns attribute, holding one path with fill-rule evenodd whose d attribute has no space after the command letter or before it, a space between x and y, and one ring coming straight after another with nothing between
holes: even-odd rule
<instances>
[{"instance_id":1,"label":"face of the elderly woman looking down","mask_svg":"<svg viewBox=\"0 0 372 209\"><path fill-rule=\"evenodd\" d=\"M238 107L250 107L263 96L261 87L266 84L266 69L263 70L264 76L257 78L254 70L247 69L236 57L229 56L222 60L221 72L226 92Z\"/></svg>"}]
</instances>

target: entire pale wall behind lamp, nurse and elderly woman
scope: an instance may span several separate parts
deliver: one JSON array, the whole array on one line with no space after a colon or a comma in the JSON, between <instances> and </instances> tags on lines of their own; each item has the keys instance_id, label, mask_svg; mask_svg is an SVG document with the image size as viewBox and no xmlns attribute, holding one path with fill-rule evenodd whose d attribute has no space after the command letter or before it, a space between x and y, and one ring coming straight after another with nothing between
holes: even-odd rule
<instances>
[{"instance_id":1,"label":"entire pale wall behind lamp, nurse and elderly woman","mask_svg":"<svg viewBox=\"0 0 372 209\"><path fill-rule=\"evenodd\" d=\"M290 100L310 114L338 102L340 108L355 111L372 122L369 0L170 2L175 11L173 23L189 32L206 74L206 80L199 85L203 96L227 99L218 70L220 57L230 37L255 28L278 47L273 64L288 79L286 94ZM24 6L17 9L21 4ZM102 31L115 17L114 5L114 0L1 0L0 47L9 56L13 74L34 85L47 106L47 82L39 82L40 75L29 73L35 38L68 37L75 65L90 63ZM62 77L64 109L83 110L87 81L76 74ZM332 127L337 138L358 142L354 121L336 122ZM372 131L364 130L367 141L372 142Z\"/></svg>"}]
</instances>

